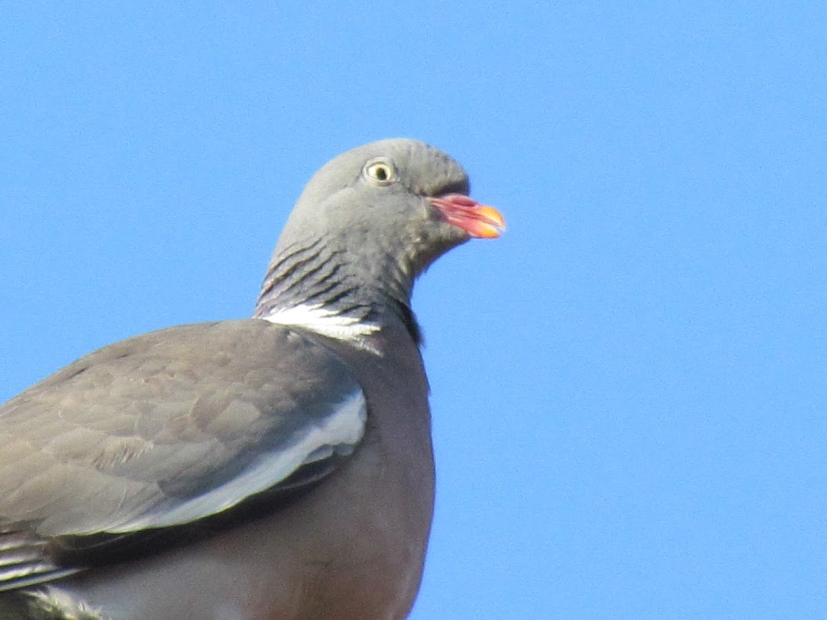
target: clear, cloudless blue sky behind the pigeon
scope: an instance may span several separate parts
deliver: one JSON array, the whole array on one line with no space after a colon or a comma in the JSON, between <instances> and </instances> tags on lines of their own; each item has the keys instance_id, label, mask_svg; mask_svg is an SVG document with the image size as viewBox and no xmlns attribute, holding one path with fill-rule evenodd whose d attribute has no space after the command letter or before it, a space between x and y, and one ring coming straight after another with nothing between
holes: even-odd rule
<instances>
[{"instance_id":1,"label":"clear, cloudless blue sky behind the pigeon","mask_svg":"<svg viewBox=\"0 0 827 620\"><path fill-rule=\"evenodd\" d=\"M0 400L248 315L310 174L417 137L509 231L414 298L412 617L827 616L825 2L66 4L0 7Z\"/></svg>"}]
</instances>

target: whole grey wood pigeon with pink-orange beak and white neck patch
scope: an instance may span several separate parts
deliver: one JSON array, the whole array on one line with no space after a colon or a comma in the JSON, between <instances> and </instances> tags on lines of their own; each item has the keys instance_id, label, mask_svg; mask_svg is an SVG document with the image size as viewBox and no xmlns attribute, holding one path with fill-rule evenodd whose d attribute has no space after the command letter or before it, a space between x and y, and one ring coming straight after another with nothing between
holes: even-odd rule
<instances>
[{"instance_id":1,"label":"whole grey wood pigeon with pink-orange beak and white neck patch","mask_svg":"<svg viewBox=\"0 0 827 620\"><path fill-rule=\"evenodd\" d=\"M504 219L419 141L313 176L253 317L0 407L0 618L404 618L433 512L414 279Z\"/></svg>"}]
</instances>

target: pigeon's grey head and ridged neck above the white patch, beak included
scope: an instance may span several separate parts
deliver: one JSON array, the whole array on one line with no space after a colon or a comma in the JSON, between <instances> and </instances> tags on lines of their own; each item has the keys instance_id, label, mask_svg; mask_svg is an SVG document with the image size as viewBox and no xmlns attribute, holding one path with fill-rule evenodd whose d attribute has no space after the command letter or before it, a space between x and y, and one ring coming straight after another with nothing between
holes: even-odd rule
<instances>
[{"instance_id":1,"label":"pigeon's grey head and ridged neck above the white patch, beak included","mask_svg":"<svg viewBox=\"0 0 827 620\"><path fill-rule=\"evenodd\" d=\"M414 279L452 247L504 228L468 188L461 165L420 141L377 141L339 155L299 197L254 316L275 320L300 306L349 327L397 317L418 339Z\"/></svg>"}]
</instances>

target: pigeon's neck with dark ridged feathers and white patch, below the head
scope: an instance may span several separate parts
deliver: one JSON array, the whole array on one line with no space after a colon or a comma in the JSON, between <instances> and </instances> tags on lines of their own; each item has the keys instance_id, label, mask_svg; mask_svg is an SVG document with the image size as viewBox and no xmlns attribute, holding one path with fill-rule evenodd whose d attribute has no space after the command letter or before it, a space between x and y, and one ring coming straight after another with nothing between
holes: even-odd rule
<instances>
[{"instance_id":1,"label":"pigeon's neck with dark ridged feathers and white patch, below the head","mask_svg":"<svg viewBox=\"0 0 827 620\"><path fill-rule=\"evenodd\" d=\"M376 353L375 336L397 322L418 345L419 327L410 309L412 276L401 265L349 259L350 253L330 249L322 240L280 248L253 317L352 341Z\"/></svg>"}]
</instances>

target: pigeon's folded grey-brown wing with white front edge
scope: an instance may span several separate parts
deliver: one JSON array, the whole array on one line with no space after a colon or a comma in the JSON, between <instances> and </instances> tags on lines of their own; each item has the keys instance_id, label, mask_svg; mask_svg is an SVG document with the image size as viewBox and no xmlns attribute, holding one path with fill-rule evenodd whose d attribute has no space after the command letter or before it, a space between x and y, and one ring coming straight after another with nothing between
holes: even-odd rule
<instances>
[{"instance_id":1,"label":"pigeon's folded grey-brown wing with white front edge","mask_svg":"<svg viewBox=\"0 0 827 620\"><path fill-rule=\"evenodd\" d=\"M42 552L54 537L196 522L316 480L366 416L341 359L258 319L95 351L0 407L0 532L23 541L0 551L0 581L58 570Z\"/></svg>"}]
</instances>

